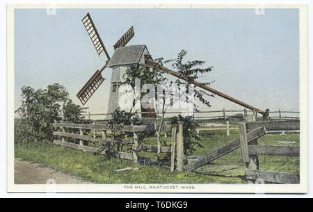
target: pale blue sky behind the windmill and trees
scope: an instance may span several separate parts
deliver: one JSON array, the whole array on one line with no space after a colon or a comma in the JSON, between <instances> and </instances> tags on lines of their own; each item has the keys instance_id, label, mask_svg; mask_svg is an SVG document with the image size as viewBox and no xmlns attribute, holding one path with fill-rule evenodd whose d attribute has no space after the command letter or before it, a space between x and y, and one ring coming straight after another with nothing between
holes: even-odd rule
<instances>
[{"instance_id":1,"label":"pale blue sky behind the windmill and trees","mask_svg":"<svg viewBox=\"0 0 313 212\"><path fill-rule=\"evenodd\" d=\"M15 109L21 88L46 88L61 83L70 98L106 61L97 55L81 18L90 13L109 54L130 26L128 45L145 44L153 58L204 60L214 69L202 82L252 106L271 111L299 111L298 9L15 9ZM106 113L111 69L85 105L90 113ZM243 109L221 97L209 98L211 108ZM81 104L80 104L81 105Z\"/></svg>"}]
</instances>

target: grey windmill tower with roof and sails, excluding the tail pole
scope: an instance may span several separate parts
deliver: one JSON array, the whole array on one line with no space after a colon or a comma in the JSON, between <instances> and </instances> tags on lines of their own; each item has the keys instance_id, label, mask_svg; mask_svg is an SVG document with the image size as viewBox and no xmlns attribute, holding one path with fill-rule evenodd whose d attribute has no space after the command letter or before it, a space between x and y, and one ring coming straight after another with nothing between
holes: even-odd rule
<instances>
[{"instance_id":1,"label":"grey windmill tower with roof and sails, excluding the tail pole","mask_svg":"<svg viewBox=\"0 0 313 212\"><path fill-rule=\"evenodd\" d=\"M116 108L125 108L124 105L121 105L124 104L124 102L120 101L120 99L122 99L121 97L123 93L120 92L118 82L123 81L123 76L129 65L145 64L145 58L151 58L149 51L145 45L125 46L129 40L134 37L134 27L131 26L131 28L129 28L129 30L124 35L122 35L118 42L113 45L115 52L113 56L110 57L89 13L83 17L82 22L91 41L93 42L93 45L95 46L97 54L100 55L102 52L104 52L106 54L107 60L104 66L100 70L97 70L95 74L93 74L93 76L91 76L91 78L87 81L87 83L83 85L83 88L81 88L81 90L79 90L77 93L77 97L81 101L81 104L85 105L88 99L90 99L90 97L95 93L97 88L99 88L99 86L104 82L104 78L101 73L106 67L111 67L112 76L108 113L113 113ZM139 104L136 104L135 108L138 112L147 112L147 110L141 105L141 101ZM148 111L154 111L154 106L149 106ZM141 116L145 117L145 115Z\"/></svg>"}]
</instances>

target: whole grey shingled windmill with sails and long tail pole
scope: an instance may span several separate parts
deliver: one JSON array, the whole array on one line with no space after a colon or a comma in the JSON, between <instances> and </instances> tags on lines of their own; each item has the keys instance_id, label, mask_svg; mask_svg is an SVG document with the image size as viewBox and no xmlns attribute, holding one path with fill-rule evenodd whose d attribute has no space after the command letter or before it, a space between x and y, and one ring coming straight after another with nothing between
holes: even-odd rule
<instances>
[{"instance_id":1,"label":"whole grey shingled windmill with sails and long tail pole","mask_svg":"<svg viewBox=\"0 0 313 212\"><path fill-rule=\"evenodd\" d=\"M77 93L77 97L83 105L86 104L88 99L90 99L90 97L95 93L97 88L99 88L99 86L104 82L104 77L102 76L102 72L104 71L104 69L106 67L111 67L113 69L113 72L111 76L108 113L112 113L116 108L118 108L120 98L118 82L122 80L123 73L125 73L127 67L134 64L145 64L150 67L158 67L161 72L165 72L166 74L170 74L184 81L188 81L189 83L192 83L193 85L198 86L203 90L212 92L215 95L223 97L224 99L232 101L235 104L239 104L240 106L248 108L252 111L255 111L256 113L261 113L264 117L267 117L269 114L268 109L266 109L266 111L262 111L259 108L246 104L243 101L240 101L238 99L230 97L229 95L226 95L223 92L215 90L208 85L204 85L203 83L200 83L198 81L190 80L177 72L169 70L166 67L160 67L157 63L154 63L145 45L132 45L126 47L126 44L129 42L129 40L134 37L135 33L133 26L131 26L131 28L129 28L129 30L124 35L122 35L122 37L113 45L115 52L111 58L106 51L106 48L104 47L104 43L102 42L97 28L93 23L93 19L91 19L89 13L87 13L87 15L83 17L82 22L86 28L86 31L88 32L91 41L93 42L97 54L100 55L102 54L102 52L104 52L107 58L104 66L97 70L95 74L90 77L87 83L83 85L83 88L81 88L81 90L79 90L79 92ZM139 106L136 106L136 109L138 109L140 112L143 111L143 107L141 107L141 104Z\"/></svg>"}]
</instances>

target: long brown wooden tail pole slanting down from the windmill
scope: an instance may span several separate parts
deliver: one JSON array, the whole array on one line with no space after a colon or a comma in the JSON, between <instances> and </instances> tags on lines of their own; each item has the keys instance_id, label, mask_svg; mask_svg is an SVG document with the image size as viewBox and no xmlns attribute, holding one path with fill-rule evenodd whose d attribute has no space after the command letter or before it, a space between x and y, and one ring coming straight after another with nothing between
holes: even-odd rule
<instances>
[{"instance_id":1,"label":"long brown wooden tail pole slanting down from the windmill","mask_svg":"<svg viewBox=\"0 0 313 212\"><path fill-rule=\"evenodd\" d=\"M218 90L215 90L214 88L210 88L208 85L204 85L204 83L200 83L198 81L195 81L195 80L191 80L191 79L188 79L186 76L182 76L181 74L179 74L178 72L174 72L172 70L169 70L168 68L166 67L163 67L157 63L154 63L153 61L147 61L146 63L148 66L151 66L151 67L158 67L159 70L163 71L163 72L166 72L167 74L170 74L172 76L176 76L177 78L179 79L182 79L184 81L188 81L188 83L191 83L195 86L198 86L200 88L202 88L203 90L207 90L211 93L214 93L215 95L218 95L220 97L223 97L224 99L227 99L227 100L230 100L236 104L239 104L240 106L243 106L245 108L248 108L252 111L255 111L257 113L261 113L263 116L267 116L268 115L268 110L266 111L262 111L261 109L259 108L255 108L254 106L251 106L250 104L246 104L244 103L243 101L239 101L238 99L235 99L233 97L230 97L229 95L226 95L225 93L223 92L220 92Z\"/></svg>"}]
</instances>

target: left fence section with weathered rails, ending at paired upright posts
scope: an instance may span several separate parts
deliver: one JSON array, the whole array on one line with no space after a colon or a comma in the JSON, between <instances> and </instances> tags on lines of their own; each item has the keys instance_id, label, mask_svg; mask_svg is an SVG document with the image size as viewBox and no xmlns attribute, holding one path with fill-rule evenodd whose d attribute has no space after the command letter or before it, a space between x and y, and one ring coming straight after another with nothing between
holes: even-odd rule
<instances>
[{"instance_id":1,"label":"left fence section with weathered rails, ending at paired upright posts","mask_svg":"<svg viewBox=\"0 0 313 212\"><path fill-rule=\"evenodd\" d=\"M109 151L109 147L113 145L117 146L117 152L114 152L114 156L122 159L127 159L129 161L134 161L138 163L138 152L158 152L171 154L171 170L182 171L184 166L184 138L183 138L183 127L182 123L166 125L163 127L164 131L171 131L172 133L172 143L170 146L158 146L158 145L147 145L143 142L139 142L139 134L147 131L155 131L155 128L151 124L145 124L140 126L124 126L116 125L111 129L106 124L74 124L74 123L54 123L53 127L56 131L53 135L56 137L54 139L55 145L61 145L64 147L70 147L73 149L83 150L85 152L99 153L102 155L109 155L112 152ZM61 130L61 131L58 131ZM76 130L79 133L67 132L70 129ZM90 131L93 136L89 136ZM102 133L101 138L97 138L97 131ZM127 131L132 133L131 140L114 140L108 139L109 131ZM74 139L71 142L68 138ZM78 141L77 141L78 140ZM89 143L93 143L92 146ZM120 145L131 145L130 152L121 152Z\"/></svg>"}]
</instances>

